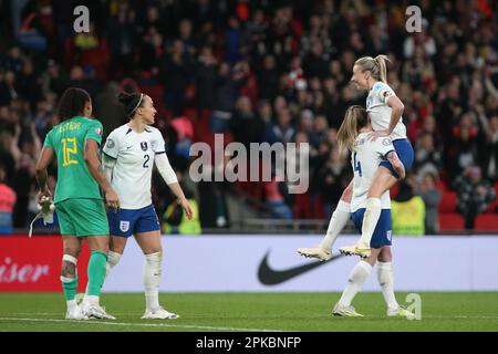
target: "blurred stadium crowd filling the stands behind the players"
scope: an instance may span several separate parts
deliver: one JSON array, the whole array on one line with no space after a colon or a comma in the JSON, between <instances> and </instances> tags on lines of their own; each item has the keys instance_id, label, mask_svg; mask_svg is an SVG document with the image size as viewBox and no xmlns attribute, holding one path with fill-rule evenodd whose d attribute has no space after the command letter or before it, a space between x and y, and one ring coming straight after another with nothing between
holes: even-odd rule
<instances>
[{"instance_id":1,"label":"blurred stadium crowd filling the stands behind the players","mask_svg":"<svg viewBox=\"0 0 498 354\"><path fill-rule=\"evenodd\" d=\"M117 92L149 94L180 176L189 146L211 144L212 133L246 145L309 143L307 194L291 195L274 179L238 188L274 217L329 218L352 178L336 131L350 105L365 105L350 84L353 63L385 53L415 149L403 190L423 198L426 232L438 232L439 222L475 229L484 214L498 229L495 1L409 1L423 15L415 33L405 29L406 1L94 0L86 1L87 33L73 30L76 2L0 4L0 190L10 190L0 214L10 210L15 228L37 212L34 165L69 86L91 93L107 134L126 122ZM203 226L226 226L227 186L195 187ZM172 197L160 184L154 195L163 212Z\"/></svg>"}]
</instances>

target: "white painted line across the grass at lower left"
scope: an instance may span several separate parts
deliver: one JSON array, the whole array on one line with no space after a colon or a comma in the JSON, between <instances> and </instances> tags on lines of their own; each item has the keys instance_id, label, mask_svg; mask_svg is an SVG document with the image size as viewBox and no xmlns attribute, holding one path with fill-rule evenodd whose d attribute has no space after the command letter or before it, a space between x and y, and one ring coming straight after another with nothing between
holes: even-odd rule
<instances>
[{"instance_id":1,"label":"white painted line across the grass at lower left","mask_svg":"<svg viewBox=\"0 0 498 354\"><path fill-rule=\"evenodd\" d=\"M55 320L55 319L19 319L19 317L0 317L0 321L25 321L25 322L72 322L79 324L107 324L107 325L131 325L141 327L178 327L178 329L196 329L196 330L214 330L214 331L235 331L235 332L283 332L280 330L261 330L261 329L239 329L239 327L215 327L209 325L191 325L191 324L165 324L165 323L124 323L124 322L106 322L106 321L79 321L79 320Z\"/></svg>"}]
</instances>

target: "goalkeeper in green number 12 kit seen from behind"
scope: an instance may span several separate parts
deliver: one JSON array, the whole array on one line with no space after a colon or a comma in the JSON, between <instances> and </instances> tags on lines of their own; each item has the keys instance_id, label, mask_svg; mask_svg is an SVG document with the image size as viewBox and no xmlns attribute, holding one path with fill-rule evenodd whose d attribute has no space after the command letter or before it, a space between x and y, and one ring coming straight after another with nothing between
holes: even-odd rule
<instances>
[{"instance_id":1,"label":"goalkeeper in green number 12 kit seen from behind","mask_svg":"<svg viewBox=\"0 0 498 354\"><path fill-rule=\"evenodd\" d=\"M92 100L89 93L76 87L64 92L58 114L61 123L45 137L37 164L37 181L40 200L50 198L51 202L46 168L56 157L58 183L53 201L63 242L61 282L68 303L65 317L113 320L98 303L108 251L108 222L98 187L105 194L107 206L120 208L117 195L106 179L98 158L102 124L90 118ZM76 262L83 239L86 239L91 250L85 308L77 305L75 300Z\"/></svg>"}]
</instances>

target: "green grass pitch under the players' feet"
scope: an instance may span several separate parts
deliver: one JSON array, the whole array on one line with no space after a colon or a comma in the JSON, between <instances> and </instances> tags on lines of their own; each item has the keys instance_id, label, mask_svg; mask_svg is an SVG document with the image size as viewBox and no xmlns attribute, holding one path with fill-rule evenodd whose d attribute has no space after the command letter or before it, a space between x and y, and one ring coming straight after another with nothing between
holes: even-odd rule
<instances>
[{"instance_id":1,"label":"green grass pitch under the players' feet","mask_svg":"<svg viewBox=\"0 0 498 354\"><path fill-rule=\"evenodd\" d=\"M116 321L65 321L62 293L0 293L0 332L13 331L498 331L497 292L419 293L422 320L388 319L381 293L360 293L362 319L331 315L339 293L162 293L178 320L141 320L144 295L104 293ZM402 303L406 293L397 293Z\"/></svg>"}]
</instances>

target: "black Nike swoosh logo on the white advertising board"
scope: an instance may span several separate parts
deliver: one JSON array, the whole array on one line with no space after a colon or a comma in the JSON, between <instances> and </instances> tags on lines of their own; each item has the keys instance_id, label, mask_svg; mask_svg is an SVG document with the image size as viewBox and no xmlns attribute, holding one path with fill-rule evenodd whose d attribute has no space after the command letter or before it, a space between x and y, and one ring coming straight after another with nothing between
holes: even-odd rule
<instances>
[{"instance_id":1,"label":"black Nike swoosh logo on the white advertising board","mask_svg":"<svg viewBox=\"0 0 498 354\"><path fill-rule=\"evenodd\" d=\"M270 266L268 266L268 256L270 254L270 251L264 254L264 258L261 260L261 263L259 264L258 270L258 279L261 283L264 285L277 285L280 283L283 283L284 281L288 281L292 278L295 278L298 275L301 275L305 272L309 272L312 269L315 269L317 267L328 264L329 262L332 262L336 260L338 258L343 257L342 254L333 256L329 261L315 261L312 263L303 264L293 267L286 270L274 270L271 269Z\"/></svg>"}]
</instances>

